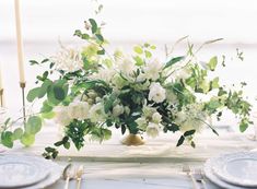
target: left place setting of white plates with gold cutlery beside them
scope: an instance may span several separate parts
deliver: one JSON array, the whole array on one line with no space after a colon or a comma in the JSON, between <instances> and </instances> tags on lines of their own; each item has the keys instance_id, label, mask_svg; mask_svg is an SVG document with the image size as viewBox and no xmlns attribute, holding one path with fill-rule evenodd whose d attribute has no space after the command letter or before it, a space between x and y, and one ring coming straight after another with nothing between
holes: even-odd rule
<instances>
[{"instance_id":1,"label":"left place setting of white plates with gold cutlery beside them","mask_svg":"<svg viewBox=\"0 0 257 189\"><path fill-rule=\"evenodd\" d=\"M83 165L68 163L66 166L40 156L25 154L0 154L0 189L39 189L51 187L58 180L61 188L75 186L81 189ZM75 185L70 184L71 180Z\"/></svg>"}]
</instances>

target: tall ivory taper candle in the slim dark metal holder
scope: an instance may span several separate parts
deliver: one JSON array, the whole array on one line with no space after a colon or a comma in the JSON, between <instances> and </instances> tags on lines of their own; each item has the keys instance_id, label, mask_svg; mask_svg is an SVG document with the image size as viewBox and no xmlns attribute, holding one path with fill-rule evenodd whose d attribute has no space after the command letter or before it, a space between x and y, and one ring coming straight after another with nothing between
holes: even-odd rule
<instances>
[{"instance_id":1,"label":"tall ivory taper candle in the slim dark metal holder","mask_svg":"<svg viewBox=\"0 0 257 189\"><path fill-rule=\"evenodd\" d=\"M20 0L14 0L15 3L15 20L16 20L16 40L17 40L17 61L20 72L20 83L25 83L24 74L24 57L23 57L23 42L21 31L21 13L20 13Z\"/></svg>"}]
</instances>

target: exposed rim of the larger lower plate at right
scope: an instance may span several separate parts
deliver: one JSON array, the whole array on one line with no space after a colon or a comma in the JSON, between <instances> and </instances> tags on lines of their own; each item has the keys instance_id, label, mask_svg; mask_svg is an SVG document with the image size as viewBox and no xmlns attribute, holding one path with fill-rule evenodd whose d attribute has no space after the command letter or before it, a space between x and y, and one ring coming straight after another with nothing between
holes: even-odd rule
<instances>
[{"instance_id":1,"label":"exposed rim of the larger lower plate at right","mask_svg":"<svg viewBox=\"0 0 257 189\"><path fill-rule=\"evenodd\" d=\"M221 187L221 188L225 188L225 189L253 189L253 187L242 187L242 186L236 186L236 185L232 185L230 182L226 182L222 179L220 179L214 173L213 173L213 166L215 166L217 164L217 158L218 157L212 157L209 158L203 166L203 172L206 177L212 181L213 184L215 184L217 186ZM256 187L255 187L256 188Z\"/></svg>"}]
</instances>

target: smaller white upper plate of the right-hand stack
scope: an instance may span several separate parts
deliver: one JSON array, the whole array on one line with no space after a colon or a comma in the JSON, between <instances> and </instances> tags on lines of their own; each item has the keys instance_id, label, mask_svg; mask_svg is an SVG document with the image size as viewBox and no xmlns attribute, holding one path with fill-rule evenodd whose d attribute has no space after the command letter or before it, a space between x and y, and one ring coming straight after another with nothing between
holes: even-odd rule
<instances>
[{"instance_id":1,"label":"smaller white upper plate of the right-hand stack","mask_svg":"<svg viewBox=\"0 0 257 189\"><path fill-rule=\"evenodd\" d=\"M213 173L222 180L244 186L257 187L257 153L238 152L215 158Z\"/></svg>"}]
</instances>

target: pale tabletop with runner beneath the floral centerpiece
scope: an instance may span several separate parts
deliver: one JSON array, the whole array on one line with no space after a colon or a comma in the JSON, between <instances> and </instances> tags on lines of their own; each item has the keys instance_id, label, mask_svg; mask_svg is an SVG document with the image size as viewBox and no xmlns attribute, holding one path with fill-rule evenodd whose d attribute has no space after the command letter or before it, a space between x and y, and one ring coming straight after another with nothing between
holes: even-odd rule
<instances>
[{"instance_id":1,"label":"pale tabletop with runner beneath the floral centerpiece","mask_svg":"<svg viewBox=\"0 0 257 189\"><path fill-rule=\"evenodd\" d=\"M125 146L120 144L120 134L114 131L112 140L102 144L87 142L78 152L60 149L56 162L65 166L68 160L75 165L84 165L85 174L81 188L122 188L122 189L189 189L192 188L189 177L182 172L183 165L190 165L191 169L202 168L206 160L222 153L249 151L257 147L257 142L249 140L246 134L234 132L231 127L218 127L219 137L210 130L196 137L197 147L190 145L176 147L178 134L162 134L157 139L145 139L142 146ZM46 145L52 144L61 138L57 127L47 126L37 135L32 147L16 147L9 150L15 153L40 155ZM70 189L75 188L75 180L71 180ZM207 180L208 189L217 189ZM61 189L65 180L60 179L47 189Z\"/></svg>"}]
</instances>

